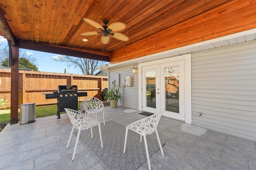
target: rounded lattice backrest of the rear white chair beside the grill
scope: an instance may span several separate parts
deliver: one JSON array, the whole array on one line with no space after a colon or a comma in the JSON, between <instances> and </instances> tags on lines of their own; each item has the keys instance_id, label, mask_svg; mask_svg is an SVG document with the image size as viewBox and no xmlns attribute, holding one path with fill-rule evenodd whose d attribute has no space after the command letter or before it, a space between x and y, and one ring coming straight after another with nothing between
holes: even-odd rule
<instances>
[{"instance_id":1,"label":"rounded lattice backrest of the rear white chair beside the grill","mask_svg":"<svg viewBox=\"0 0 256 170\"><path fill-rule=\"evenodd\" d=\"M85 110L97 109L98 111L104 109L104 104L98 98L88 97L83 100L83 106Z\"/></svg>"}]
</instances>

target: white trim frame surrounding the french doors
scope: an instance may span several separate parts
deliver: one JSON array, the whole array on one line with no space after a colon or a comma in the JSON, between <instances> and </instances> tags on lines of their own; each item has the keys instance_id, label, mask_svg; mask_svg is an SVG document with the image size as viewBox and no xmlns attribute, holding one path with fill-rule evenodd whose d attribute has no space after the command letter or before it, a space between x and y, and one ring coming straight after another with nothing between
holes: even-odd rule
<instances>
[{"instance_id":1,"label":"white trim frame surrounding the french doors","mask_svg":"<svg viewBox=\"0 0 256 170\"><path fill-rule=\"evenodd\" d=\"M139 97L139 110L142 111L142 67L144 66L150 66L154 64L161 64L161 63L170 63L170 62L176 62L176 61L184 61L185 66L185 123L192 123L192 113L191 113L191 54L186 54L182 56L177 57L170 57L166 59L156 60L156 61L150 61L146 63L139 63L138 69L139 75L138 75L138 97Z\"/></svg>"}]
</instances>

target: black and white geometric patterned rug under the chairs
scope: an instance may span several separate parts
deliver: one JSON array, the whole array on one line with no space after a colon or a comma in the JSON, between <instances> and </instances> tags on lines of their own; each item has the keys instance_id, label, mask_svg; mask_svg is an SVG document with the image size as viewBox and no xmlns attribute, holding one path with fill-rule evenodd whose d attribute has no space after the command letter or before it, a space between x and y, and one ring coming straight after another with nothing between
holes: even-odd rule
<instances>
[{"instance_id":1,"label":"black and white geometric patterned rug under the chairs","mask_svg":"<svg viewBox=\"0 0 256 170\"><path fill-rule=\"evenodd\" d=\"M94 154L107 170L135 170L147 160L144 140L140 143L140 135L134 131L128 131L126 153L124 154L124 139L126 127L114 121L102 123L101 133L103 149L100 147L100 135L98 126L92 128L93 138L90 130L83 130L80 141ZM74 131L77 135L78 130ZM149 156L158 149L157 139L147 136ZM161 143L162 146L164 143Z\"/></svg>"}]
</instances>

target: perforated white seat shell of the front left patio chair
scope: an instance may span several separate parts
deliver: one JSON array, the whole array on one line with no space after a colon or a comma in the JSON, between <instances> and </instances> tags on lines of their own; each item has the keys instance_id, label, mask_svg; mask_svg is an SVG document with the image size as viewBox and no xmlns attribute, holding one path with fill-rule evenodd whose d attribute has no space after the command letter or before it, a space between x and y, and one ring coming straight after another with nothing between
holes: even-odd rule
<instances>
[{"instance_id":1,"label":"perforated white seat shell of the front left patio chair","mask_svg":"<svg viewBox=\"0 0 256 170\"><path fill-rule=\"evenodd\" d=\"M83 126L86 129L87 127L91 127L92 125L95 125L96 123L98 123L98 121L96 121L95 119L92 119L85 114L81 114L81 112L79 111L68 109L68 108L64 108L64 109L68 113L68 117L72 125L76 129L79 129L80 126Z\"/></svg>"}]
</instances>

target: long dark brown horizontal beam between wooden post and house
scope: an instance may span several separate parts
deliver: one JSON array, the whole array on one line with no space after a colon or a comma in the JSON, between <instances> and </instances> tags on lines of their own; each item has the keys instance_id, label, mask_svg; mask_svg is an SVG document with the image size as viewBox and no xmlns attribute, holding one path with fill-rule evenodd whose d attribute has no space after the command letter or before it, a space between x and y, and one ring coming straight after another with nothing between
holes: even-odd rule
<instances>
[{"instance_id":1,"label":"long dark brown horizontal beam between wooden post and house","mask_svg":"<svg viewBox=\"0 0 256 170\"><path fill-rule=\"evenodd\" d=\"M82 49L74 49L74 48L67 48L67 47L60 47L56 45L48 45L42 43L32 43L27 41L20 41L19 42L20 48L22 49L30 49L35 51L42 51L46 53L54 53L60 55L68 55L73 57L81 57L85 59L93 59L98 61L106 61L110 62L110 53L100 52L98 51L88 51Z\"/></svg>"}]
</instances>

